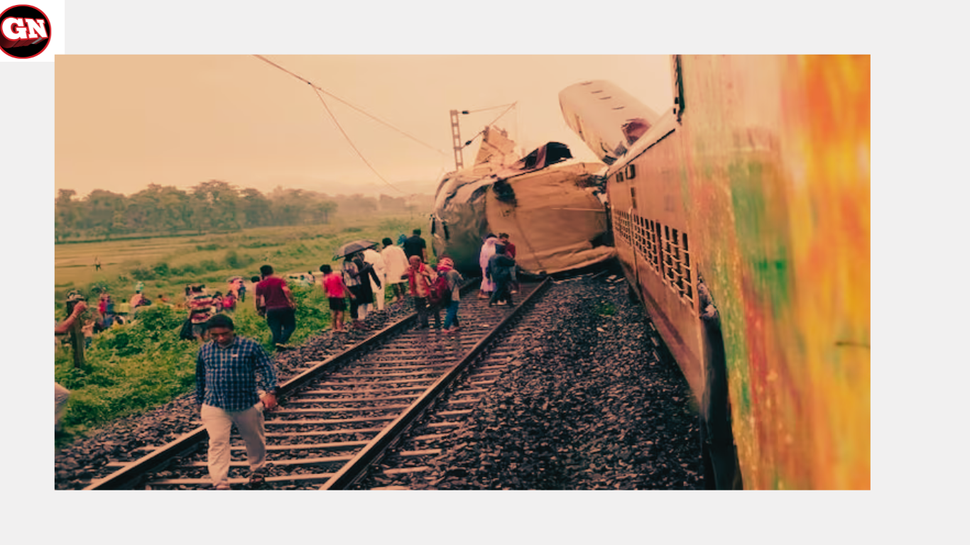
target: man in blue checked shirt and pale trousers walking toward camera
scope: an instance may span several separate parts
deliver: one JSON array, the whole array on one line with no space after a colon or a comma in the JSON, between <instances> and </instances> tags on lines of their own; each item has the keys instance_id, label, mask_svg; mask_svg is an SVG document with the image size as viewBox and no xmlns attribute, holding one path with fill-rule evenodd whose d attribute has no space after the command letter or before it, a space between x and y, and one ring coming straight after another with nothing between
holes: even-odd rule
<instances>
[{"instance_id":1,"label":"man in blue checked shirt and pale trousers walking toward camera","mask_svg":"<svg viewBox=\"0 0 970 545\"><path fill-rule=\"evenodd\" d=\"M276 406L273 362L259 343L236 337L232 318L216 314L207 323L210 341L199 349L195 364L195 402L209 433L209 475L212 488L230 490L229 438L233 424L245 441L249 487L264 482L266 430L263 408ZM257 390L266 392L260 397Z\"/></svg>"}]
</instances>

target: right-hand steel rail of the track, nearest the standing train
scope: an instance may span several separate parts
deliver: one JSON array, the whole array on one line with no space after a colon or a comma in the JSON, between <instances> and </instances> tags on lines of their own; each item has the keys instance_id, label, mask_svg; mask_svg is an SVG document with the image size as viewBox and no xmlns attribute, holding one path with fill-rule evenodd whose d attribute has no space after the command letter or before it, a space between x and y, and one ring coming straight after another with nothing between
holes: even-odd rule
<instances>
[{"instance_id":1,"label":"right-hand steel rail of the track, nearest the standing train","mask_svg":"<svg viewBox=\"0 0 970 545\"><path fill-rule=\"evenodd\" d=\"M495 337L505 330L505 328L515 319L522 309L531 304L549 285L549 278L545 278L536 286L529 296L522 303L516 305L512 312L509 312L499 324L492 328L485 337L475 343L469 353L462 358L452 369L449 369L432 384L420 398L411 403L397 419L389 424L383 431L371 440L371 443L364 447L353 460L334 474L319 490L346 490L354 485L363 477L371 465L375 464L384 453L407 432L411 425L462 375L465 369L481 355Z\"/></svg>"}]
</instances>

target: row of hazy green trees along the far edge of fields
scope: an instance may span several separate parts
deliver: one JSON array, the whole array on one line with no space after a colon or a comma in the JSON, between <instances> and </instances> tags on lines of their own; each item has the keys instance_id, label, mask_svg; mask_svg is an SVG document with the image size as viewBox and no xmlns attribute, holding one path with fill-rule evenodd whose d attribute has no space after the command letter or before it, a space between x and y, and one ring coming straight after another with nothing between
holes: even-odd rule
<instances>
[{"instance_id":1,"label":"row of hazy green trees along the far edge of fields","mask_svg":"<svg viewBox=\"0 0 970 545\"><path fill-rule=\"evenodd\" d=\"M70 239L111 239L134 234L176 234L185 231L233 231L247 227L329 223L334 214L372 213L379 209L407 211L404 198L380 200L356 194L328 196L305 189L277 186L264 195L222 180L209 180L188 190L149 184L133 195L95 189L79 199L73 189L59 189L54 200L56 242Z\"/></svg>"}]
</instances>

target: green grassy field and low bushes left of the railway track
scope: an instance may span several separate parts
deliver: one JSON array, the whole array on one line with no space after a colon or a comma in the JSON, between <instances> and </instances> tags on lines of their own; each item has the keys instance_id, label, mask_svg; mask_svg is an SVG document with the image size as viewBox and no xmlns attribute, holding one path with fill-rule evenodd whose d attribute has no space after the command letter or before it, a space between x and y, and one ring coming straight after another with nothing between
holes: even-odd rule
<instances>
[{"instance_id":1,"label":"green grassy field and low bushes left of the railway track","mask_svg":"<svg viewBox=\"0 0 970 545\"><path fill-rule=\"evenodd\" d=\"M350 240L397 240L411 229L427 229L425 215L378 216L328 225L273 227L239 233L140 240L113 240L55 244L54 315L65 317L70 290L80 290L91 306L97 291L107 290L116 302L134 295L135 284L145 282L145 294L163 293L171 303L182 301L189 282L204 282L210 291L226 291L226 279L259 273L270 264L280 274L319 271L322 264L339 265L334 250ZM427 240L427 237L426 237ZM97 257L102 270L93 266ZM336 267L335 267L336 268ZM327 300L318 287L293 289L297 298L297 331L291 342L300 343L329 326ZM251 292L250 292L251 297ZM88 310L85 317L93 316ZM143 412L171 401L194 388L198 343L178 339L187 312L152 305L138 320L94 337L85 351L85 366L75 369L70 351L55 351L55 380L72 391L62 419L64 436L55 448L114 419ZM237 331L270 347L270 334L247 297L235 311Z\"/></svg>"}]
</instances>

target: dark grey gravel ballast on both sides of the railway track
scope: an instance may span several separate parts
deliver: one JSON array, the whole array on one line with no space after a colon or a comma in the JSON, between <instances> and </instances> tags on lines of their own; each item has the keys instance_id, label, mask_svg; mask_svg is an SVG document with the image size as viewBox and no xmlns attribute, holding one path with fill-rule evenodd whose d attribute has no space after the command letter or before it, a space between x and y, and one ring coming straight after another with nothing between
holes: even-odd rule
<instances>
[{"instance_id":1,"label":"dark grey gravel ballast on both sides of the railway track","mask_svg":"<svg viewBox=\"0 0 970 545\"><path fill-rule=\"evenodd\" d=\"M473 297L473 295L469 296ZM373 330L410 311L409 301L371 318ZM621 277L556 280L505 345L521 348L433 471L412 489L702 489L697 417L683 375L663 350ZM274 356L285 380L363 339L330 332ZM198 426L191 396L122 419L55 454L55 489L81 489ZM100 467L100 469L99 469ZM379 487L372 479L361 488Z\"/></svg>"}]
</instances>

